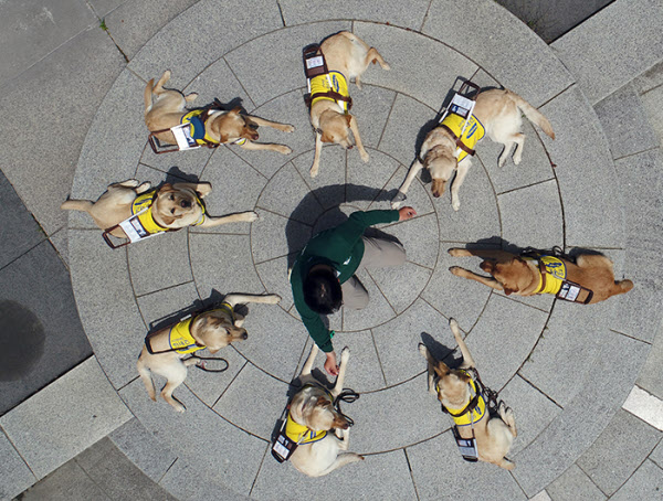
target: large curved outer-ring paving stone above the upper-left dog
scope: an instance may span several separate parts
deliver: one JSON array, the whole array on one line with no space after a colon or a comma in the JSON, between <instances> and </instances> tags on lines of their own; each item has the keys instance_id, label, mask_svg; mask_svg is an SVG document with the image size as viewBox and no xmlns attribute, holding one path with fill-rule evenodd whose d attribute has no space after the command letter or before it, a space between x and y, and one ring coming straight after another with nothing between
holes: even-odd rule
<instances>
[{"instance_id":1,"label":"large curved outer-ring paving stone above the upper-left dog","mask_svg":"<svg viewBox=\"0 0 663 501\"><path fill-rule=\"evenodd\" d=\"M171 85L181 88L228 51L282 26L278 6L272 1L202 0L150 39L129 67L146 79L171 70Z\"/></svg>"}]
</instances>

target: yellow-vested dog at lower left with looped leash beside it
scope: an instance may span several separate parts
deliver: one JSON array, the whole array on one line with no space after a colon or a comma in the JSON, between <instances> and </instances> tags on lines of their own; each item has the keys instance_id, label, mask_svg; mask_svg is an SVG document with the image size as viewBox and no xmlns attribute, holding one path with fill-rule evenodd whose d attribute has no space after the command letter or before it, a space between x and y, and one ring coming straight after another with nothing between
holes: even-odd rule
<instances>
[{"instance_id":1,"label":"yellow-vested dog at lower left with looped leash beside it","mask_svg":"<svg viewBox=\"0 0 663 501\"><path fill-rule=\"evenodd\" d=\"M185 406L172 397L172 392L185 382L187 367L198 362L196 358L185 358L204 348L210 353L217 353L230 343L249 337L246 329L242 327L244 317L234 312L236 305L248 302L276 305L280 300L281 297L275 294L267 296L232 294L225 297L219 309L206 311L149 335L145 340L146 344L136 364L149 397L155 402L157 399L150 374L154 372L168 380L161 390L164 399L178 413L183 413Z\"/></svg>"}]
</instances>

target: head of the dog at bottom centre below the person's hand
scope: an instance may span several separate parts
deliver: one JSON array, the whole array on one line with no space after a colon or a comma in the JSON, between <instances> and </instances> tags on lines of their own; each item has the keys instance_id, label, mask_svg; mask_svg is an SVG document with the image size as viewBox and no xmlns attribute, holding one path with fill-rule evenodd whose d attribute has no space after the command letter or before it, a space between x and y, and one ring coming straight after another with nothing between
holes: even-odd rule
<instances>
[{"instance_id":1,"label":"head of the dog at bottom centre below the person's hand","mask_svg":"<svg viewBox=\"0 0 663 501\"><path fill-rule=\"evenodd\" d=\"M318 386L305 386L291 402L291 416L296 423L315 431L348 429L348 420L334 409L330 398L330 395Z\"/></svg>"}]
</instances>

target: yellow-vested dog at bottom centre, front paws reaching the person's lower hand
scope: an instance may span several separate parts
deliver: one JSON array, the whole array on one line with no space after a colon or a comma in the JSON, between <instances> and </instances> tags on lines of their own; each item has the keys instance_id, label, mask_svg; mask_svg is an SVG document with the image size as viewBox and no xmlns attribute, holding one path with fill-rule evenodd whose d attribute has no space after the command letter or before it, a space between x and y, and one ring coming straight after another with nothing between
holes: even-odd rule
<instances>
[{"instance_id":1,"label":"yellow-vested dog at bottom centre, front paws reaching the person's lower hand","mask_svg":"<svg viewBox=\"0 0 663 501\"><path fill-rule=\"evenodd\" d=\"M334 398L343 391L350 351L344 348L340 353L338 377L332 391L323 387L311 374L317 352L318 348L314 344L299 375L304 386L291 402L286 425L288 438L299 443L291 462L308 477L323 477L364 459L358 454L346 452L350 439L349 424L333 405Z\"/></svg>"}]
</instances>

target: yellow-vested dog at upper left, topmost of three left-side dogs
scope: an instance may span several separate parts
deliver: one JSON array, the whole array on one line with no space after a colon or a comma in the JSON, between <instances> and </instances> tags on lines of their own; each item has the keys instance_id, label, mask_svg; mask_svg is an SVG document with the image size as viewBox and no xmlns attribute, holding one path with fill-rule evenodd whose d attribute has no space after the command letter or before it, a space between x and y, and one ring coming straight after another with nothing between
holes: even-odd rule
<instances>
[{"instance_id":1,"label":"yellow-vested dog at upper left, topmost of three left-side dogs","mask_svg":"<svg viewBox=\"0 0 663 501\"><path fill-rule=\"evenodd\" d=\"M191 124L191 137L200 146L240 145L248 150L270 150L288 154L293 150L284 145L270 145L253 142L259 139L257 127L272 127L283 132L292 132L295 128L291 125L264 120L240 114L241 107L231 111L221 109L189 110L185 106L192 103L198 94L182 95L179 90L165 89L164 85L170 79L170 71L166 71L161 78L154 85L154 78L145 87L145 125L150 132L157 132L160 142L176 145L170 129L180 124ZM152 96L156 103L152 104Z\"/></svg>"}]
</instances>

